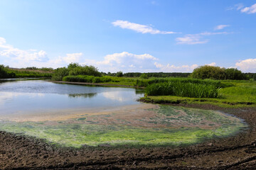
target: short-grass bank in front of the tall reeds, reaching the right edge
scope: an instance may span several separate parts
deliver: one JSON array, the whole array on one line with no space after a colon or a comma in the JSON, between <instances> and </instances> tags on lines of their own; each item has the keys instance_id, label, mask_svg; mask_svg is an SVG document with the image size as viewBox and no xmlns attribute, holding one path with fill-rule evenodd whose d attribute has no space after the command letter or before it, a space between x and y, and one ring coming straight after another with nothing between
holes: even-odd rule
<instances>
[{"instance_id":1,"label":"short-grass bank in front of the tall reeds, reaching the right edge","mask_svg":"<svg viewBox=\"0 0 256 170\"><path fill-rule=\"evenodd\" d=\"M189 98L180 96L146 96L141 101L149 103L198 103L221 107L256 107L256 81L221 81L225 87L219 91L220 98Z\"/></svg>"}]
</instances>

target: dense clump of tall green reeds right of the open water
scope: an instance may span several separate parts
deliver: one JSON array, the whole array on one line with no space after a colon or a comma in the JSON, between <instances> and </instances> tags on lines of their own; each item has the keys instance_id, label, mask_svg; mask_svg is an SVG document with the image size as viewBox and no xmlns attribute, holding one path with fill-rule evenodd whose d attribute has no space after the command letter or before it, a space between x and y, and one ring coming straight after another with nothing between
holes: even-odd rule
<instances>
[{"instance_id":1,"label":"dense clump of tall green reeds right of the open water","mask_svg":"<svg viewBox=\"0 0 256 170\"><path fill-rule=\"evenodd\" d=\"M184 81L169 81L146 86L149 96L182 96L193 98L217 98L220 88L214 84L198 84Z\"/></svg>"}]
</instances>

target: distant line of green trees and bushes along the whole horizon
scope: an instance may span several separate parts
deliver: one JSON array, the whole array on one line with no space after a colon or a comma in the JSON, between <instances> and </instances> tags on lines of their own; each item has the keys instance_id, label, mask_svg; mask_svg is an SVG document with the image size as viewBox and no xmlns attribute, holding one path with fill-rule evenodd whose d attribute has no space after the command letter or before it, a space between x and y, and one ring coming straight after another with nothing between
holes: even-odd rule
<instances>
[{"instance_id":1,"label":"distant line of green trees and bushes along the whole horizon","mask_svg":"<svg viewBox=\"0 0 256 170\"><path fill-rule=\"evenodd\" d=\"M155 78L168 78L168 77L181 77L181 78L194 78L194 79L233 79L233 80L256 80L256 73L242 73L240 70L235 68L220 68L215 66L201 66L193 70L192 73L182 72L99 72L96 67L80 65L78 63L70 63L68 67L60 67L57 69L53 68L37 68L37 67L26 67L22 69L9 68L0 64L0 79L6 78L20 78L20 77L52 77L53 80L62 80L66 76L111 76L111 77L133 77L139 79Z\"/></svg>"}]
</instances>

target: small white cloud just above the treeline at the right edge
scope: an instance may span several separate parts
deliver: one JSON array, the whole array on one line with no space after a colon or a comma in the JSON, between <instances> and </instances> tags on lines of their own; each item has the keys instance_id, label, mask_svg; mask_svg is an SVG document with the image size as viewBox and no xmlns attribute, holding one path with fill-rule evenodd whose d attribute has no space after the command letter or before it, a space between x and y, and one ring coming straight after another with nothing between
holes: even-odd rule
<instances>
[{"instance_id":1,"label":"small white cloud just above the treeline at the right edge","mask_svg":"<svg viewBox=\"0 0 256 170\"><path fill-rule=\"evenodd\" d=\"M242 72L255 72L256 73L256 58L240 60L235 63L235 67L238 67Z\"/></svg>"}]
</instances>

